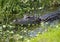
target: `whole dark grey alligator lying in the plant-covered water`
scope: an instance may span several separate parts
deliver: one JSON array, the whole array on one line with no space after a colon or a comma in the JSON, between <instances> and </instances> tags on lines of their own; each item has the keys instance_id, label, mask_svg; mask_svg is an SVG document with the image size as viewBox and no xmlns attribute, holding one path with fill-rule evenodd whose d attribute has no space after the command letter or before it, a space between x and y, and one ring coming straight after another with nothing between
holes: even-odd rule
<instances>
[{"instance_id":1,"label":"whole dark grey alligator lying in the plant-covered water","mask_svg":"<svg viewBox=\"0 0 60 42\"><path fill-rule=\"evenodd\" d=\"M40 17L35 16L24 16L22 19L15 19L13 22L15 24L23 24L23 25L32 25L32 24L39 24L41 21L48 22L54 21L56 19L60 19L60 11L51 12L49 14L42 15Z\"/></svg>"}]
</instances>

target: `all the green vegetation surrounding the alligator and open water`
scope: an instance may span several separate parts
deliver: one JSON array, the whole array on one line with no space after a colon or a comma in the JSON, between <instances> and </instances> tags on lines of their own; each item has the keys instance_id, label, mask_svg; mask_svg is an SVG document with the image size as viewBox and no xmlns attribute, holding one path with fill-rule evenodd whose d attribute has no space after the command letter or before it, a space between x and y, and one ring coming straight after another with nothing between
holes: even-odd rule
<instances>
[{"instance_id":1,"label":"all the green vegetation surrounding the alligator and open water","mask_svg":"<svg viewBox=\"0 0 60 42\"><path fill-rule=\"evenodd\" d=\"M60 0L0 0L0 42L60 42L60 24L48 27L47 32L31 38L28 34L26 37L22 35L40 25L23 27L12 23L14 19L26 14L42 15L57 10L59 4Z\"/></svg>"}]
</instances>

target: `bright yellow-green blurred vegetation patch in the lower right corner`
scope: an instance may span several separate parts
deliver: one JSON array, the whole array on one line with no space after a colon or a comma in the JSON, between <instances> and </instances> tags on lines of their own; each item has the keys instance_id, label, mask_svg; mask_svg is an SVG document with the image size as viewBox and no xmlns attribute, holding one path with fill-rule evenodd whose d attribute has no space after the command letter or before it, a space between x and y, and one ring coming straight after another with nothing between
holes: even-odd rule
<instances>
[{"instance_id":1,"label":"bright yellow-green blurred vegetation patch in the lower right corner","mask_svg":"<svg viewBox=\"0 0 60 42\"><path fill-rule=\"evenodd\" d=\"M34 37L30 42L60 42L60 26L49 29L48 32L38 34L37 37Z\"/></svg>"}]
</instances>

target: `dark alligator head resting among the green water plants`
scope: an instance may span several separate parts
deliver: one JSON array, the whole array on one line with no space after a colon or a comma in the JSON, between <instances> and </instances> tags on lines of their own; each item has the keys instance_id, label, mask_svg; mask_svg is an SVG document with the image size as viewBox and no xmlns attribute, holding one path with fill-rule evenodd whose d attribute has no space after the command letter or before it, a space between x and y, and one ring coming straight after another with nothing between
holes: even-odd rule
<instances>
[{"instance_id":1,"label":"dark alligator head resting among the green water plants","mask_svg":"<svg viewBox=\"0 0 60 42\"><path fill-rule=\"evenodd\" d=\"M19 24L19 25L32 25L32 24L38 24L40 23L40 19L34 16L27 16L27 17L23 17L22 19L15 19L13 20L13 23L15 24Z\"/></svg>"}]
</instances>

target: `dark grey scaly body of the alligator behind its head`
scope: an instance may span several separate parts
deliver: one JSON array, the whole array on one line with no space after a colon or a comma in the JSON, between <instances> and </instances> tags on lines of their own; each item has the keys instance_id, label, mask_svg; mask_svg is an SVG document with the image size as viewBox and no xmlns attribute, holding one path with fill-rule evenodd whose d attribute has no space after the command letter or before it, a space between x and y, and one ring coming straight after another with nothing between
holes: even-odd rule
<instances>
[{"instance_id":1,"label":"dark grey scaly body of the alligator behind its head","mask_svg":"<svg viewBox=\"0 0 60 42\"><path fill-rule=\"evenodd\" d=\"M39 19L41 19L41 21L44 21L44 22L54 21L54 20L60 19L60 11L45 14L45 15L39 17Z\"/></svg>"}]
</instances>

